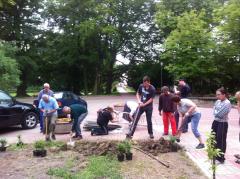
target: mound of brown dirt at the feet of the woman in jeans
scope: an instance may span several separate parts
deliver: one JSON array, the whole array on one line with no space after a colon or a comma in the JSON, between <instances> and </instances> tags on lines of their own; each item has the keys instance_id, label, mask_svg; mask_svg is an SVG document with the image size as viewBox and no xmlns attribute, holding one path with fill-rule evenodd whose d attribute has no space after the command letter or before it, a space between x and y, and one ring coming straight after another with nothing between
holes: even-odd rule
<instances>
[{"instance_id":1,"label":"mound of brown dirt at the feet of the woman in jeans","mask_svg":"<svg viewBox=\"0 0 240 179\"><path fill-rule=\"evenodd\" d=\"M176 142L165 140L163 137L159 140L138 141L137 144L142 150L155 156L159 153L177 152L182 149Z\"/></svg>"}]
</instances>

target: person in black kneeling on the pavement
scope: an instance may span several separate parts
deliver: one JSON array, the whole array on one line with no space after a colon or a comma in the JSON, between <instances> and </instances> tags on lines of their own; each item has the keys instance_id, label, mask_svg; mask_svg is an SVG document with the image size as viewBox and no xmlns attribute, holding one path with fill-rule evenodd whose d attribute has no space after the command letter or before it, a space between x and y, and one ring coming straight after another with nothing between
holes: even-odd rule
<instances>
[{"instance_id":1,"label":"person in black kneeling on the pavement","mask_svg":"<svg viewBox=\"0 0 240 179\"><path fill-rule=\"evenodd\" d=\"M108 123L116 122L113 118L113 108L107 107L97 111L97 124L100 128L93 128L91 135L108 135Z\"/></svg>"}]
</instances>

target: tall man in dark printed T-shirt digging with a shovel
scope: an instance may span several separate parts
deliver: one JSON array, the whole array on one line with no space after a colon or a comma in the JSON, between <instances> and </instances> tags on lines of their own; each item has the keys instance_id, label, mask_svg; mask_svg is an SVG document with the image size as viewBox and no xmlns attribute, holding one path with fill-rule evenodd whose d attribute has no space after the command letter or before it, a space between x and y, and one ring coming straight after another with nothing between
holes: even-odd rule
<instances>
[{"instance_id":1,"label":"tall man in dark printed T-shirt digging with a shovel","mask_svg":"<svg viewBox=\"0 0 240 179\"><path fill-rule=\"evenodd\" d=\"M139 86L136 94L137 101L139 103L139 112L137 114L136 119L133 121L126 138L132 138L136 130L137 123L144 112L146 113L149 137L151 139L154 138L152 129L152 111L153 111L153 98L155 96L155 92L156 90L154 86L150 84L150 78L148 76L145 76L143 78L143 83Z\"/></svg>"}]
</instances>

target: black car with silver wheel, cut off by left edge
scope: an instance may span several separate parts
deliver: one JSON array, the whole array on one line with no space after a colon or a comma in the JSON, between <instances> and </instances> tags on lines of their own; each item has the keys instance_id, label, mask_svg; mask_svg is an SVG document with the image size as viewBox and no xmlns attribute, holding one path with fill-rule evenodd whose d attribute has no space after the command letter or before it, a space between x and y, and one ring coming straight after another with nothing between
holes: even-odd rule
<instances>
[{"instance_id":1,"label":"black car with silver wheel, cut off by left edge","mask_svg":"<svg viewBox=\"0 0 240 179\"><path fill-rule=\"evenodd\" d=\"M22 125L24 129L33 129L38 120L39 112L33 105L18 102L0 90L0 128Z\"/></svg>"}]
</instances>

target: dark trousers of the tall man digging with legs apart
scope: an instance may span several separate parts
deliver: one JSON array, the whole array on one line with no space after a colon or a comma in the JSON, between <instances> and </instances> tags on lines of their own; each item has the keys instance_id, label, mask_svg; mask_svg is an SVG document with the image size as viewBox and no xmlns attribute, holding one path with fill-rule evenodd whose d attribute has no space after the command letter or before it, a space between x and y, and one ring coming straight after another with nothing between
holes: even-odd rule
<instances>
[{"instance_id":1,"label":"dark trousers of the tall man digging with legs apart","mask_svg":"<svg viewBox=\"0 0 240 179\"><path fill-rule=\"evenodd\" d=\"M128 132L128 135L129 136L133 136L135 130L136 130L136 127L137 127L137 123L141 117L141 115L145 112L146 113L146 118L147 118L147 128L148 128L148 134L153 134L153 129L152 129L152 111L153 111L153 108L152 106L148 106L148 107L141 107L139 109L138 113L136 114L137 115L137 118L133 121L132 123L132 126Z\"/></svg>"}]
</instances>

